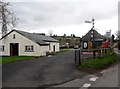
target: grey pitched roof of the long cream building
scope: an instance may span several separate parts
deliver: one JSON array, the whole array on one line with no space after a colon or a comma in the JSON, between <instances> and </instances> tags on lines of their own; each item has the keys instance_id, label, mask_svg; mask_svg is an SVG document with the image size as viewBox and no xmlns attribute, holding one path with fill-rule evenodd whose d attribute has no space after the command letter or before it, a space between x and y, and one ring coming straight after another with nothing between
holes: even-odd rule
<instances>
[{"instance_id":1,"label":"grey pitched roof of the long cream building","mask_svg":"<svg viewBox=\"0 0 120 89\"><path fill-rule=\"evenodd\" d=\"M25 36L26 38L28 38L38 44L48 44L46 42L58 42L58 40L55 40L54 38L52 38L50 36L44 36L44 35L39 35L39 34L35 34L35 33L28 33L28 32L20 31L20 30L12 30L11 32L13 32L13 31L18 32L19 34ZM9 32L9 33L11 33L11 32ZM6 34L5 36L7 36L8 34Z\"/></svg>"}]
</instances>

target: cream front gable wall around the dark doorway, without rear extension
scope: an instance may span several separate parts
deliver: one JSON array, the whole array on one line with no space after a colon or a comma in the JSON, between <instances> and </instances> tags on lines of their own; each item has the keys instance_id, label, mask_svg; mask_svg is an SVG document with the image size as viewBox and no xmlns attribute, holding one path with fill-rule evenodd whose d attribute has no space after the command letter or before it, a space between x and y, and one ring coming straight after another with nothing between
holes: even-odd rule
<instances>
[{"instance_id":1,"label":"cream front gable wall around the dark doorway, without rear extension","mask_svg":"<svg viewBox=\"0 0 120 89\"><path fill-rule=\"evenodd\" d=\"M15 34L15 39L13 39L13 34ZM3 56L10 56L10 43L19 43L19 56L41 56L42 52L44 53L45 51L42 49L47 49L47 47L41 48L40 45L20 35L16 31L13 31L7 35L0 42L2 42L2 45L5 46L5 51L1 52ZM26 45L33 45L34 52L25 52Z\"/></svg>"}]
</instances>

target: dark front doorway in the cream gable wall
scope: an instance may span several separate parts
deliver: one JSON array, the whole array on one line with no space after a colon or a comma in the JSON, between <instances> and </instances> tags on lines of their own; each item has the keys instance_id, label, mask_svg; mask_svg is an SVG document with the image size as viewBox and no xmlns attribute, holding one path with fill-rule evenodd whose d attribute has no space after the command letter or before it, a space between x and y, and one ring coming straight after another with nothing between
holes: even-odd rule
<instances>
[{"instance_id":1,"label":"dark front doorway in the cream gable wall","mask_svg":"<svg viewBox=\"0 0 120 89\"><path fill-rule=\"evenodd\" d=\"M18 43L10 43L10 56L18 56Z\"/></svg>"}]
</instances>

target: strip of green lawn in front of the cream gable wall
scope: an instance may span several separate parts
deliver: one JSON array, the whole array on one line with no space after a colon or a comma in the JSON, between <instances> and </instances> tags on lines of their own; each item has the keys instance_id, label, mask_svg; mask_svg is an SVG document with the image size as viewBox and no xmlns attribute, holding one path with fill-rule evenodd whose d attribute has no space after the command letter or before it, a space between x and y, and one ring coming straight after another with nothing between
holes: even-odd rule
<instances>
[{"instance_id":1,"label":"strip of green lawn in front of the cream gable wall","mask_svg":"<svg viewBox=\"0 0 120 89\"><path fill-rule=\"evenodd\" d=\"M11 62L16 62L20 60L28 60L32 59L32 56L8 56L8 57L0 57L0 64L7 64Z\"/></svg>"}]
</instances>

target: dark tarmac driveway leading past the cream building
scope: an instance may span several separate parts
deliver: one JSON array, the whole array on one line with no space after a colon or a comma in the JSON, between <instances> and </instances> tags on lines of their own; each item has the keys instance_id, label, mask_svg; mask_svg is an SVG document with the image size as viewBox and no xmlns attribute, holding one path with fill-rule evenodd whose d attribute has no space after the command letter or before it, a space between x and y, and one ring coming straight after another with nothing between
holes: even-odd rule
<instances>
[{"instance_id":1,"label":"dark tarmac driveway leading past the cream building","mask_svg":"<svg viewBox=\"0 0 120 89\"><path fill-rule=\"evenodd\" d=\"M74 51L2 66L3 87L40 87L60 84L86 74L74 64Z\"/></svg>"}]
</instances>

